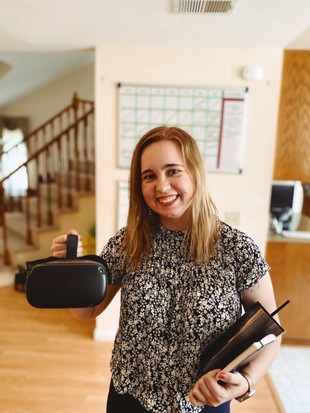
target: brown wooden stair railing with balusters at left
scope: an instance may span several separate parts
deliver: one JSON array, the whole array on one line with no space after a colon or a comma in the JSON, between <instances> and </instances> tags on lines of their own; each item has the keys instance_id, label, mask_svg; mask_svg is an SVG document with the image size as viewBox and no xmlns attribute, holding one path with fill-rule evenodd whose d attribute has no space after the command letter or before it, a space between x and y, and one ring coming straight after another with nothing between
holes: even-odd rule
<instances>
[{"instance_id":1,"label":"brown wooden stair railing with balusters at left","mask_svg":"<svg viewBox=\"0 0 310 413\"><path fill-rule=\"evenodd\" d=\"M80 103L83 106L82 110L79 107ZM81 164L83 162L87 170L90 162L94 162L93 130L89 130L89 126L93 124L94 104L91 101L81 100L77 95L74 95L72 104L53 116L50 121L53 122L59 117L59 114L65 113L68 109L74 111L74 116L72 119L69 119L68 124L62 125L61 130L54 136L49 137L46 142L43 140L39 148L30 152L28 159L24 163L20 164L14 171L0 180L0 226L2 226L3 259L6 265L10 264L6 223L6 205L9 195L6 195L4 189L6 181L12 178L14 179L14 175L19 170L26 168L29 187L24 197L24 212L26 226L25 239L28 244L33 243L31 213L33 213L34 208L30 206L30 198L33 193L35 193L37 197L35 208L36 226L41 227L43 221L45 221L47 225L53 225L51 207L52 184L56 187L58 208L63 208L64 203L66 207L72 206L72 190L69 190L69 188L72 187L70 182L72 165L75 165L76 173L73 190L76 192L90 190L87 178L85 184L82 186ZM90 122L90 119L92 122ZM43 131L44 133L47 127L51 127L50 122L45 122L34 132L27 135L27 139L25 139L23 143L29 142L29 136L38 136L36 135L38 131L40 131L40 133ZM89 150L89 147L92 148L92 150ZM64 178L62 177L62 173L67 176L66 182L63 182ZM47 190L47 211L45 217L43 217L42 211L42 183L46 184ZM67 190L66 196L64 194L65 190Z\"/></svg>"}]
</instances>

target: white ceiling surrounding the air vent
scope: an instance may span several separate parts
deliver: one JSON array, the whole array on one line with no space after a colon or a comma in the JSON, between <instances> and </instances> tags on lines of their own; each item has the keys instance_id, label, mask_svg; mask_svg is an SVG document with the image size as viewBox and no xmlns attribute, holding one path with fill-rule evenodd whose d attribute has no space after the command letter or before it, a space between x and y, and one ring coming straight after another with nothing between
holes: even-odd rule
<instances>
[{"instance_id":1,"label":"white ceiling surrounding the air vent","mask_svg":"<svg viewBox=\"0 0 310 413\"><path fill-rule=\"evenodd\" d=\"M237 0L230 14L177 14L172 0L0 3L0 107L92 63L96 45L310 50L310 0Z\"/></svg>"}]
</instances>

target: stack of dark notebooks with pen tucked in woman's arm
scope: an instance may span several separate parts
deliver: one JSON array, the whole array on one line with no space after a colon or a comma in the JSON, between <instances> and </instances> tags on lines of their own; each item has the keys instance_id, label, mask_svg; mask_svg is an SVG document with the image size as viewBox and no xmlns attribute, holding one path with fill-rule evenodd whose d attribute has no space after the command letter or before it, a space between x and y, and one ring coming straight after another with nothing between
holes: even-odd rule
<instances>
[{"instance_id":1,"label":"stack of dark notebooks with pen tucked in woman's arm","mask_svg":"<svg viewBox=\"0 0 310 413\"><path fill-rule=\"evenodd\" d=\"M228 330L208 344L201 355L202 374L213 369L240 370L276 340L284 329L273 318L289 301L270 314L259 302Z\"/></svg>"}]
</instances>

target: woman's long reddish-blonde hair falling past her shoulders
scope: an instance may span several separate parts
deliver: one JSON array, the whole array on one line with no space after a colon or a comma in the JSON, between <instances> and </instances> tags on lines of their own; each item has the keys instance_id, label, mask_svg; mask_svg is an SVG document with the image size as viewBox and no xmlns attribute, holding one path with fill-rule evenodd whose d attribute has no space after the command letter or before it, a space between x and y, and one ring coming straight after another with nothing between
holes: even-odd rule
<instances>
[{"instance_id":1,"label":"woman's long reddish-blonde hair falling past her shoulders","mask_svg":"<svg viewBox=\"0 0 310 413\"><path fill-rule=\"evenodd\" d=\"M185 168L194 184L190 224L183 249L196 264L202 264L215 254L219 238L218 212L206 185L206 173L196 141L177 127L159 126L147 132L134 150L129 177L129 210L123 242L126 258L133 268L148 256L160 217L149 208L142 195L141 156L154 142L172 140L180 147Z\"/></svg>"}]
</instances>

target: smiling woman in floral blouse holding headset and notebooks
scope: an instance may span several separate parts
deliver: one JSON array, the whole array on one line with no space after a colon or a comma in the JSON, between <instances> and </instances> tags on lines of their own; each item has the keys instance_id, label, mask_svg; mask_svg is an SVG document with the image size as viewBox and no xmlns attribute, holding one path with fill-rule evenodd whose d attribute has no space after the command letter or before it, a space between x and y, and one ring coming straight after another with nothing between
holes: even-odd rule
<instances>
[{"instance_id":1,"label":"smiling woman in floral blouse holding headset and notebooks","mask_svg":"<svg viewBox=\"0 0 310 413\"><path fill-rule=\"evenodd\" d=\"M65 255L66 237L54 239L54 256ZM276 308L268 265L251 238L219 220L197 144L185 131L162 126L138 142L127 226L101 255L113 284L100 305L73 311L96 317L121 289L108 413L224 413L230 400L248 396L280 340L243 374L216 369L200 377L199 358L242 306Z\"/></svg>"}]
</instances>

